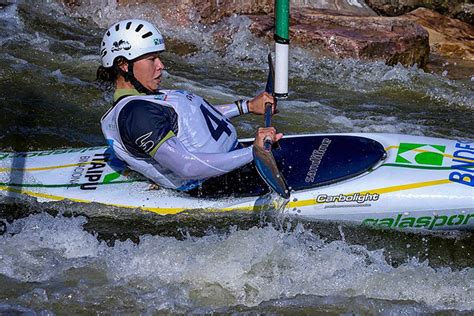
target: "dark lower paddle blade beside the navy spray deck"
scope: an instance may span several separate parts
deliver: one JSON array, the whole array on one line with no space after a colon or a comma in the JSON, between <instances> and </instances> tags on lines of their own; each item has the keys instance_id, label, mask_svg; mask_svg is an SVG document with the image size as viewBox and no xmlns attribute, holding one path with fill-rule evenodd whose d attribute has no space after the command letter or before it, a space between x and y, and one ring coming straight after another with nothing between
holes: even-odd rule
<instances>
[{"instance_id":1,"label":"dark lower paddle blade beside the navy spray deck","mask_svg":"<svg viewBox=\"0 0 474 316\"><path fill-rule=\"evenodd\" d=\"M278 170L272 152L265 151L258 146L253 146L253 160L258 173L268 186L282 198L289 199L290 191L288 185L280 170Z\"/></svg>"}]
</instances>

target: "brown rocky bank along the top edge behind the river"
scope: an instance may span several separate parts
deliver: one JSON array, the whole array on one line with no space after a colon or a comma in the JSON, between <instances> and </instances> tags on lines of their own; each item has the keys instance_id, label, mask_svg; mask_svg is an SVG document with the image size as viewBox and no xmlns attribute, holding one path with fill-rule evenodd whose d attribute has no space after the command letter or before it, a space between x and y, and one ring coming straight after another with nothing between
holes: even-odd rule
<instances>
[{"instance_id":1,"label":"brown rocky bank along the top edge behind the river","mask_svg":"<svg viewBox=\"0 0 474 316\"><path fill-rule=\"evenodd\" d=\"M63 1L75 10L92 0ZM273 0L116 1L117 8L142 5L159 11L171 25L215 24L233 14L246 15L252 21L253 33L269 41L273 36ZM463 76L469 76L474 70L471 7L462 0L291 0L290 41L330 58L428 68L433 62L453 65L462 61L468 68ZM229 38L225 29L213 36L218 45L226 45Z\"/></svg>"}]
</instances>

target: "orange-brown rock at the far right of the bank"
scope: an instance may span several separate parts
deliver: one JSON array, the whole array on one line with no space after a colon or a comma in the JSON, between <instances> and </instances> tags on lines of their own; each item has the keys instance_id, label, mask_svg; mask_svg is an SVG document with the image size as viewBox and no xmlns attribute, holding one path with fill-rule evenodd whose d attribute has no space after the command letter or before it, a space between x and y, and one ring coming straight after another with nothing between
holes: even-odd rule
<instances>
[{"instance_id":1,"label":"orange-brown rock at the far right of the bank","mask_svg":"<svg viewBox=\"0 0 474 316\"><path fill-rule=\"evenodd\" d=\"M474 61L472 25L425 8L416 9L406 17L428 31L432 52L444 57Z\"/></svg>"}]
</instances>

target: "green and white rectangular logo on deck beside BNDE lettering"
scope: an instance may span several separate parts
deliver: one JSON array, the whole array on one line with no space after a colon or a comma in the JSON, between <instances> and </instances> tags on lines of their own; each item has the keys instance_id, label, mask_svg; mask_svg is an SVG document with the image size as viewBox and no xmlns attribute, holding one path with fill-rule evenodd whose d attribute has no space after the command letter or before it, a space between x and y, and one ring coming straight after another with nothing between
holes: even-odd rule
<instances>
[{"instance_id":1,"label":"green and white rectangular logo on deck beside BNDE lettering","mask_svg":"<svg viewBox=\"0 0 474 316\"><path fill-rule=\"evenodd\" d=\"M395 162L426 166L442 166L446 146L400 143Z\"/></svg>"}]
</instances>

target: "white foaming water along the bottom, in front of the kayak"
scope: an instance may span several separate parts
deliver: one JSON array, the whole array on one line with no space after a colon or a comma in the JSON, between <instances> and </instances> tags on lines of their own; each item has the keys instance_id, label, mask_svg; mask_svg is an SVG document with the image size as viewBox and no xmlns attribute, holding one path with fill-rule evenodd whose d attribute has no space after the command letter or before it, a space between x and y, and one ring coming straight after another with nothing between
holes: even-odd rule
<instances>
[{"instance_id":1,"label":"white foaming water along the bottom, in front of the kayak","mask_svg":"<svg viewBox=\"0 0 474 316\"><path fill-rule=\"evenodd\" d=\"M435 269L417 259L393 267L383 249L325 242L301 226L294 232L253 227L186 240L147 235L139 244L125 241L107 247L82 229L84 222L40 214L8 225L8 233L15 235L0 238L0 273L44 288L42 282L71 268L98 270L107 276L104 284L88 286L88 294L79 295L80 282L71 280L78 288L71 285L70 291L86 300L82 304L92 304L116 295L119 287L135 310L256 306L301 294L407 300L433 309L474 308L472 268ZM50 303L58 297L36 292L37 300Z\"/></svg>"}]
</instances>

